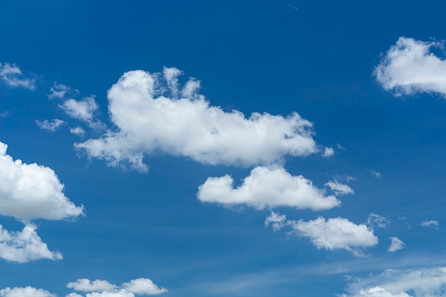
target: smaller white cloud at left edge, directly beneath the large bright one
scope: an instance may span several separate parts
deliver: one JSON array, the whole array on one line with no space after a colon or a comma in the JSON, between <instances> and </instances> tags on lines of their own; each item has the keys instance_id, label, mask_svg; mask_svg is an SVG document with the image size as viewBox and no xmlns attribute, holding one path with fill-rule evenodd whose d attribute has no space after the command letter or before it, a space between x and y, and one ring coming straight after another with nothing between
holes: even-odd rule
<instances>
[{"instance_id":1,"label":"smaller white cloud at left edge, directly beneath the large bright one","mask_svg":"<svg viewBox=\"0 0 446 297\"><path fill-rule=\"evenodd\" d=\"M62 255L48 249L32 224L24 226L20 232L9 232L0 225L0 258L26 263L38 259L61 260Z\"/></svg>"}]
</instances>

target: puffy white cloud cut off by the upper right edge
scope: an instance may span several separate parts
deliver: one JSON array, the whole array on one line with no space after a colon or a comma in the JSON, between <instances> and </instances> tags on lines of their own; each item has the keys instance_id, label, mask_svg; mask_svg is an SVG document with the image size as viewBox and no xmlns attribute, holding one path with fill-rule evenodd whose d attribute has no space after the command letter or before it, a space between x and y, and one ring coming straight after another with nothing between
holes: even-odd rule
<instances>
[{"instance_id":1,"label":"puffy white cloud cut off by the upper right edge","mask_svg":"<svg viewBox=\"0 0 446 297\"><path fill-rule=\"evenodd\" d=\"M395 95L427 92L446 96L446 61L431 48L443 49L443 43L400 37L375 68L378 82Z\"/></svg>"}]
</instances>

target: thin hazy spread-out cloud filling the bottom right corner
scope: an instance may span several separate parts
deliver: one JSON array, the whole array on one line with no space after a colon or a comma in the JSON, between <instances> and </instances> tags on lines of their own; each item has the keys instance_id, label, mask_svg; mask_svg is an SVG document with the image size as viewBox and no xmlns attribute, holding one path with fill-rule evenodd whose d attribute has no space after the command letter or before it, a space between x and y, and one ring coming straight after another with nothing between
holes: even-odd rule
<instances>
[{"instance_id":1,"label":"thin hazy spread-out cloud filling the bottom right corner","mask_svg":"<svg viewBox=\"0 0 446 297\"><path fill-rule=\"evenodd\" d=\"M355 292L360 291L361 288L373 288L375 286L379 286L393 294L405 292L415 297L445 296L446 267L408 269L403 271L388 269L378 275L370 274L366 278L357 278L355 282L348 286L348 291L353 295Z\"/></svg>"}]
</instances>

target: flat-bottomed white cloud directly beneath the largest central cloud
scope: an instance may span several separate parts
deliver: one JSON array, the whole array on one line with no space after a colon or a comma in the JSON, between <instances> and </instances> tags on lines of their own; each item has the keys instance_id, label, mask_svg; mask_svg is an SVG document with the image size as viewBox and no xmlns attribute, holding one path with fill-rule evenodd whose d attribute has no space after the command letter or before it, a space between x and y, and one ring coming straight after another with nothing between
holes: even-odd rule
<instances>
[{"instance_id":1,"label":"flat-bottomed white cloud directly beneath the largest central cloud","mask_svg":"<svg viewBox=\"0 0 446 297\"><path fill-rule=\"evenodd\" d=\"M209 177L198 188L201 202L224 205L247 204L256 209L264 207L296 207L322 210L337 207L341 202L335 196L326 196L323 189L314 187L309 179L292 176L284 168L255 167L242 185L233 188L229 175Z\"/></svg>"}]
</instances>

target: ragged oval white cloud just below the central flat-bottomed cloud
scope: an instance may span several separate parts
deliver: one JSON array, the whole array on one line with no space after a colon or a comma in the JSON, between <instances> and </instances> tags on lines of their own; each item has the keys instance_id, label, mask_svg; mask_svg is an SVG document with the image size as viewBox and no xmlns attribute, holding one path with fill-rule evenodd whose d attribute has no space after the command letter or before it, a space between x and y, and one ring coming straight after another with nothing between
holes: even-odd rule
<instances>
[{"instance_id":1,"label":"ragged oval white cloud just below the central flat-bottomed cloud","mask_svg":"<svg viewBox=\"0 0 446 297\"><path fill-rule=\"evenodd\" d=\"M348 219L318 217L313 221L289 221L296 234L308 237L318 249L346 249L361 256L361 248L375 246L378 238L364 224L354 224Z\"/></svg>"}]
</instances>

